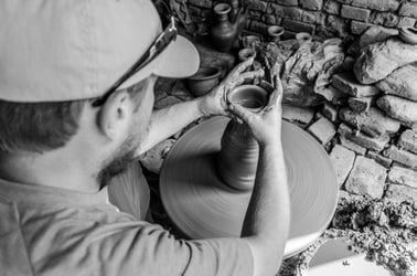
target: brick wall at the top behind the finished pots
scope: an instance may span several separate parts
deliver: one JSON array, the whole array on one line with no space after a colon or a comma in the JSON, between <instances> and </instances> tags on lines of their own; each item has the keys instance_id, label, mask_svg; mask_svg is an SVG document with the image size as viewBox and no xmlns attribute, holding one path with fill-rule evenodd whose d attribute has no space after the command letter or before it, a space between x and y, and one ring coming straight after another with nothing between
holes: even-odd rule
<instances>
[{"instance_id":1,"label":"brick wall at the top behind the finished pots","mask_svg":"<svg viewBox=\"0 0 417 276\"><path fill-rule=\"evenodd\" d=\"M224 0L227 2L227 0ZM286 35L309 32L318 38L361 34L370 25L414 26L415 0L243 0L250 4L247 30L266 33L271 24L282 25ZM189 0L194 18L207 18L213 1ZM417 26L417 25L416 25Z\"/></svg>"}]
</instances>

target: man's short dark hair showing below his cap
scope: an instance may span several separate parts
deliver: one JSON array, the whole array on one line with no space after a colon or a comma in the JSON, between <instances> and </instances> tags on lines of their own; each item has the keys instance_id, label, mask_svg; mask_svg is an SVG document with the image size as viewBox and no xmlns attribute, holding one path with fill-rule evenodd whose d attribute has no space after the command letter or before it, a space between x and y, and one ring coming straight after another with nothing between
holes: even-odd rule
<instances>
[{"instance_id":1,"label":"man's short dark hair showing below his cap","mask_svg":"<svg viewBox=\"0 0 417 276\"><path fill-rule=\"evenodd\" d=\"M147 79L126 88L131 98ZM119 93L118 91L116 93ZM94 99L52 103L0 100L0 156L18 151L44 152L63 147L78 130L85 104Z\"/></svg>"}]
</instances>

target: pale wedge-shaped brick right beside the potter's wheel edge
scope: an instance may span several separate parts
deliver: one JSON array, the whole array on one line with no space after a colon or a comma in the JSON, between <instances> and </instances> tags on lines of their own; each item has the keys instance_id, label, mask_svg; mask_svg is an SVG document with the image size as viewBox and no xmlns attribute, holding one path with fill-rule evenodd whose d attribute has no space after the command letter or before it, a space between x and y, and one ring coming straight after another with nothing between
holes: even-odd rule
<instances>
[{"instance_id":1,"label":"pale wedge-shaped brick right beside the potter's wheel edge","mask_svg":"<svg viewBox=\"0 0 417 276\"><path fill-rule=\"evenodd\" d=\"M336 173L339 187L344 183L351 172L355 157L355 152L340 145L335 145L330 152L330 160Z\"/></svg>"}]
</instances>

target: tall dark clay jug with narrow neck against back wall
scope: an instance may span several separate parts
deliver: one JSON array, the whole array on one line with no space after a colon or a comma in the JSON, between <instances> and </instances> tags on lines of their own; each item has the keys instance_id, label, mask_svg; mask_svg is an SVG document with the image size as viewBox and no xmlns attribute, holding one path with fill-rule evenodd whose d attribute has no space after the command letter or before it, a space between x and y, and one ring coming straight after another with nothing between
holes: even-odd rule
<instances>
[{"instance_id":1,"label":"tall dark clay jug with narrow neck against back wall","mask_svg":"<svg viewBox=\"0 0 417 276\"><path fill-rule=\"evenodd\" d=\"M214 6L215 22L211 29L211 36L214 46L224 53L228 53L236 39L237 29L228 21L231 6L227 3L217 3Z\"/></svg>"}]
</instances>

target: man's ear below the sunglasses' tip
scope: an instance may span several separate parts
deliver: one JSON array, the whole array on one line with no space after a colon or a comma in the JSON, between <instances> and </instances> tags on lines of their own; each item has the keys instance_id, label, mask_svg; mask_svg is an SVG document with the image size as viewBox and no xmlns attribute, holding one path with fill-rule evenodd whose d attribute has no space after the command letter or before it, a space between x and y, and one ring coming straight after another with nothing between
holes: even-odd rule
<instances>
[{"instance_id":1,"label":"man's ear below the sunglasses' tip","mask_svg":"<svg viewBox=\"0 0 417 276\"><path fill-rule=\"evenodd\" d=\"M111 94L97 114L100 131L110 140L124 136L129 129L131 108L129 94L126 91Z\"/></svg>"}]
</instances>

